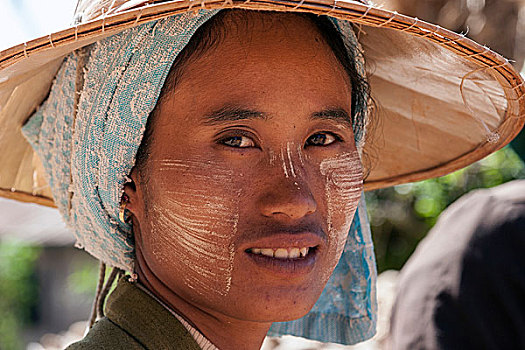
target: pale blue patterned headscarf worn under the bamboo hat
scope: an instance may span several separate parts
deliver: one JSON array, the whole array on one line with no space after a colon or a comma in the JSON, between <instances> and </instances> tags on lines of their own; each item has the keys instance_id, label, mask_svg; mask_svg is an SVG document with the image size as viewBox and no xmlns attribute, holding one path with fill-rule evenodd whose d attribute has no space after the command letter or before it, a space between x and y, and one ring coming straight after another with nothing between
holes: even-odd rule
<instances>
[{"instance_id":1,"label":"pale blue patterned headscarf worn under the bamboo hat","mask_svg":"<svg viewBox=\"0 0 525 350\"><path fill-rule=\"evenodd\" d=\"M217 10L152 21L88 48L84 83L76 98L80 56L71 54L47 100L23 133L44 164L48 182L78 245L104 263L133 271L131 226L119 221L127 175L177 55ZM351 47L351 24L333 19ZM363 62L359 64L364 75ZM364 130L355 130L362 149ZM362 199L346 247L323 294L305 317L275 323L271 335L353 344L375 333L375 260Z\"/></svg>"}]
</instances>

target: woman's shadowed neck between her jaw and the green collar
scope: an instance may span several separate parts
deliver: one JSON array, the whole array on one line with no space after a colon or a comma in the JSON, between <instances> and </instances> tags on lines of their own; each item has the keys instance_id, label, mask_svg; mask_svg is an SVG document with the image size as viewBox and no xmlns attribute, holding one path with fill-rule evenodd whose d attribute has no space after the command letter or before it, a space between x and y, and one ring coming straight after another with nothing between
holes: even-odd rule
<instances>
[{"instance_id":1,"label":"woman's shadowed neck between her jaw and the green collar","mask_svg":"<svg viewBox=\"0 0 525 350\"><path fill-rule=\"evenodd\" d=\"M205 310L178 296L148 268L139 249L136 251L139 282L173 312L184 318L220 350L260 349L271 322L239 320Z\"/></svg>"}]
</instances>

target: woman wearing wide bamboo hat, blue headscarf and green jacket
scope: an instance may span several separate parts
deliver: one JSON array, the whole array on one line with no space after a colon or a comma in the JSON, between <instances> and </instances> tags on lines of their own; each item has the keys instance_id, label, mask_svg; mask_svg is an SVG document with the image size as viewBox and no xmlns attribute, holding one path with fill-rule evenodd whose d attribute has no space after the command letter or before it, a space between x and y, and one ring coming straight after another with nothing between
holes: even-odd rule
<instances>
[{"instance_id":1,"label":"woman wearing wide bamboo hat, blue headscarf and green jacket","mask_svg":"<svg viewBox=\"0 0 525 350\"><path fill-rule=\"evenodd\" d=\"M360 3L107 5L80 2L79 21L100 21L0 61L2 113L28 85L34 103L47 93L49 78L29 74L34 60L41 75L60 65L38 110L13 115L79 243L131 273L72 349L256 349L270 327L367 339L375 267L363 174L371 187L437 176L523 124L521 78L503 58ZM367 125L379 131L365 142ZM27 192L38 195L35 174ZM22 185L10 186L19 199Z\"/></svg>"}]
</instances>

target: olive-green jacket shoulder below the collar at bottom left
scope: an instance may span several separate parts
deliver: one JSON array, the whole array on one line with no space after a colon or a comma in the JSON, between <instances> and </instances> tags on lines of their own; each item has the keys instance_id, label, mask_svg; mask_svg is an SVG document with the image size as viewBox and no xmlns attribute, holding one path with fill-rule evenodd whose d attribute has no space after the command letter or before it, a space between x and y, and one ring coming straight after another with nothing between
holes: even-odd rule
<instances>
[{"instance_id":1,"label":"olive-green jacket shoulder below the collar at bottom left","mask_svg":"<svg viewBox=\"0 0 525 350\"><path fill-rule=\"evenodd\" d=\"M98 320L84 339L73 343L67 350L144 350L138 341L106 317Z\"/></svg>"}]
</instances>

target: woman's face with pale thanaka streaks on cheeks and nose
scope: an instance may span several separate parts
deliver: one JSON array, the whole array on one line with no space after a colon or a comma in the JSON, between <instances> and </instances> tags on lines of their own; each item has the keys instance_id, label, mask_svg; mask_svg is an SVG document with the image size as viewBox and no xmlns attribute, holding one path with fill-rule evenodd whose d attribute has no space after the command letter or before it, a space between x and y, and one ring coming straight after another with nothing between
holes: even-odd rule
<instances>
[{"instance_id":1,"label":"woman's face with pale thanaka streaks on cheeks and nose","mask_svg":"<svg viewBox=\"0 0 525 350\"><path fill-rule=\"evenodd\" d=\"M296 319L335 268L362 190L351 86L307 19L226 23L152 125L132 209L140 263L201 309Z\"/></svg>"}]
</instances>

